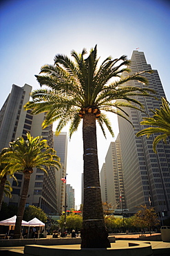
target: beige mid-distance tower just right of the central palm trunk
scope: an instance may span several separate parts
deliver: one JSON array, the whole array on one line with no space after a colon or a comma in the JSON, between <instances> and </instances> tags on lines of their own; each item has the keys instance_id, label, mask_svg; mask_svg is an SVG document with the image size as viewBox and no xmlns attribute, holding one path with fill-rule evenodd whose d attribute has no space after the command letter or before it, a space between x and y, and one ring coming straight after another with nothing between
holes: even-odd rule
<instances>
[{"instance_id":1,"label":"beige mid-distance tower just right of the central palm trunk","mask_svg":"<svg viewBox=\"0 0 170 256\"><path fill-rule=\"evenodd\" d=\"M125 209L125 188L119 134L115 142L111 142L109 145L105 163L100 172L100 183L103 202L111 203L115 209Z\"/></svg>"}]
</instances>

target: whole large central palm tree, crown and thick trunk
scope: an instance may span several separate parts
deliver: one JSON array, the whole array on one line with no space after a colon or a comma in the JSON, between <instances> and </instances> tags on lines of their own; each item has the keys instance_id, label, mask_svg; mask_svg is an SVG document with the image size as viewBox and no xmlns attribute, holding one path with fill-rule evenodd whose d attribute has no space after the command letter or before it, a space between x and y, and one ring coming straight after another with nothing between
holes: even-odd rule
<instances>
[{"instance_id":1,"label":"whole large central palm tree, crown and thick trunk","mask_svg":"<svg viewBox=\"0 0 170 256\"><path fill-rule=\"evenodd\" d=\"M32 101L25 104L25 109L33 109L34 114L47 112L43 127L59 120L56 134L71 122L70 138L83 119L84 201L81 248L107 248L110 244L100 194L96 120L104 136L105 125L114 136L104 111L116 113L128 120L122 107L140 109L142 104L134 96L148 96L151 90L142 86L123 86L129 80L147 84L146 78L140 76L142 73L120 78L123 71L130 71L127 68L130 62L125 55L115 60L107 57L98 66L96 46L87 59L84 58L86 53L85 49L81 54L72 51L74 62L65 55L56 55L54 65L42 66L40 75L35 76L41 86L47 87L34 91ZM118 80L112 81L113 77L118 77Z\"/></svg>"}]
</instances>

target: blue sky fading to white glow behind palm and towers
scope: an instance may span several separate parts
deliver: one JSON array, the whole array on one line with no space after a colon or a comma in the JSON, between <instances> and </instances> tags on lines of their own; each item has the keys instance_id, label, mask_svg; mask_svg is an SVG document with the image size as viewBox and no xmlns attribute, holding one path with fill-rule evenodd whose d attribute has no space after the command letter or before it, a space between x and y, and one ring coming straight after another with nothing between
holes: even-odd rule
<instances>
[{"instance_id":1,"label":"blue sky fading to white glow behind palm and towers","mask_svg":"<svg viewBox=\"0 0 170 256\"><path fill-rule=\"evenodd\" d=\"M11 0L0 2L0 107L12 84L39 88L34 75L43 64L53 64L54 55L70 56L74 49L89 51L98 45L101 60L120 57L139 48L148 64L157 69L170 100L170 3L164 0ZM115 136L118 125L111 117ZM55 126L55 125L54 125ZM64 129L63 131L67 131ZM109 143L98 135L100 168ZM68 146L67 182L81 203L83 146L81 127Z\"/></svg>"}]
</instances>

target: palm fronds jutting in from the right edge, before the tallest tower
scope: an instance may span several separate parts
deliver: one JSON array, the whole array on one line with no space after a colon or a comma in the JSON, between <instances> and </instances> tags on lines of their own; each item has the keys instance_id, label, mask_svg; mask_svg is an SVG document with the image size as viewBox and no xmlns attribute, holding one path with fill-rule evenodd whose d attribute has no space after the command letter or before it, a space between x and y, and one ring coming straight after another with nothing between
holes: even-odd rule
<instances>
[{"instance_id":1,"label":"palm fronds jutting in from the right edge, before the tallest tower","mask_svg":"<svg viewBox=\"0 0 170 256\"><path fill-rule=\"evenodd\" d=\"M153 112L153 117L143 118L143 121L140 122L141 125L149 125L152 127L147 127L139 131L136 136L147 135L147 138L151 134L158 134L153 140L153 151L156 153L156 145L160 140L164 140L164 143L167 143L167 137L170 136L170 104L165 99L162 98L162 105L160 109L155 109Z\"/></svg>"}]
</instances>

